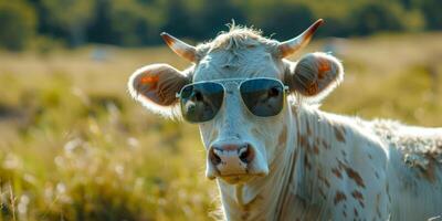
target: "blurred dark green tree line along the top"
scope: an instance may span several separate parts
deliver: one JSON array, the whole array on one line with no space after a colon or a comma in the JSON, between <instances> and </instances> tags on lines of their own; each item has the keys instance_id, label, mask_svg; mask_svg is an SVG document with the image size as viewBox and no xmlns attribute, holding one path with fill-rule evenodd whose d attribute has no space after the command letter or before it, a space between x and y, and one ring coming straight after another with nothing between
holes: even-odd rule
<instances>
[{"instance_id":1,"label":"blurred dark green tree line along the top","mask_svg":"<svg viewBox=\"0 0 442 221\"><path fill-rule=\"evenodd\" d=\"M151 45L161 31L201 41L232 20L278 40L318 18L323 36L442 30L441 9L441 0L0 0L0 46Z\"/></svg>"}]
</instances>

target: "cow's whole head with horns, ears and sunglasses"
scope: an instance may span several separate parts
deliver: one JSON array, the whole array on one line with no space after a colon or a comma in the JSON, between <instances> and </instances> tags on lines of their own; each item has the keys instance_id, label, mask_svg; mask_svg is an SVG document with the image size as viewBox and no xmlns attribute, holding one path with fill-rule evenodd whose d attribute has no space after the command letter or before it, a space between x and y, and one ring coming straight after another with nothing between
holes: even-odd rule
<instances>
[{"instance_id":1,"label":"cow's whole head with horns, ears and sunglasses","mask_svg":"<svg viewBox=\"0 0 442 221\"><path fill-rule=\"evenodd\" d=\"M208 178L238 183L266 176L296 134L287 95L318 99L343 78L330 55L312 53L297 63L284 59L305 46L320 23L285 42L234 27L198 46L164 33L171 50L194 65L141 67L131 75L129 92L154 113L199 124Z\"/></svg>"}]
</instances>

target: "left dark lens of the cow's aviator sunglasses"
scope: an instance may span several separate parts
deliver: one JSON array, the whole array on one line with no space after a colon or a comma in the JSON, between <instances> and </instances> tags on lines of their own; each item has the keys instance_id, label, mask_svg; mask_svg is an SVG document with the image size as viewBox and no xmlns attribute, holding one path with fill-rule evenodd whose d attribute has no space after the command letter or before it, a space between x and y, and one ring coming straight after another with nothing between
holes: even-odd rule
<instances>
[{"instance_id":1,"label":"left dark lens of the cow's aviator sunglasses","mask_svg":"<svg viewBox=\"0 0 442 221\"><path fill-rule=\"evenodd\" d=\"M217 83L185 86L180 94L181 113L186 120L201 123L212 119L222 105L224 88Z\"/></svg>"}]
</instances>

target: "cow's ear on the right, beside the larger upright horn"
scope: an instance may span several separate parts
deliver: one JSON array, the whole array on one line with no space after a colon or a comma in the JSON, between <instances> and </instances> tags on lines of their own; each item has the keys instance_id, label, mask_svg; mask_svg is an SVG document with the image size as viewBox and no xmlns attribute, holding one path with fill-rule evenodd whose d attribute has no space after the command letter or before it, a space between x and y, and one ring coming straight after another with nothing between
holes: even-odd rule
<instances>
[{"instance_id":1,"label":"cow's ear on the right, beside the larger upright horn","mask_svg":"<svg viewBox=\"0 0 442 221\"><path fill-rule=\"evenodd\" d=\"M344 78L340 62L325 53L316 52L287 64L285 83L291 92L320 99L328 95Z\"/></svg>"}]
</instances>

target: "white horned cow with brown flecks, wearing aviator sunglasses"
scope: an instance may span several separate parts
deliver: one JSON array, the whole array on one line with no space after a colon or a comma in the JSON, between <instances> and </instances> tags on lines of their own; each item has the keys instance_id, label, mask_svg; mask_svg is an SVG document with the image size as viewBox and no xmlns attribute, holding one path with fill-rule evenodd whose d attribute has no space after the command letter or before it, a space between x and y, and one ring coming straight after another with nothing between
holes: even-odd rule
<instances>
[{"instance_id":1,"label":"white horned cow with brown flecks, wearing aviator sunglasses","mask_svg":"<svg viewBox=\"0 0 442 221\"><path fill-rule=\"evenodd\" d=\"M193 64L138 69L128 91L150 112L199 126L225 220L438 218L442 128L320 110L341 63L322 52L285 57L322 23L284 42L238 25L197 46L162 33Z\"/></svg>"}]
</instances>

